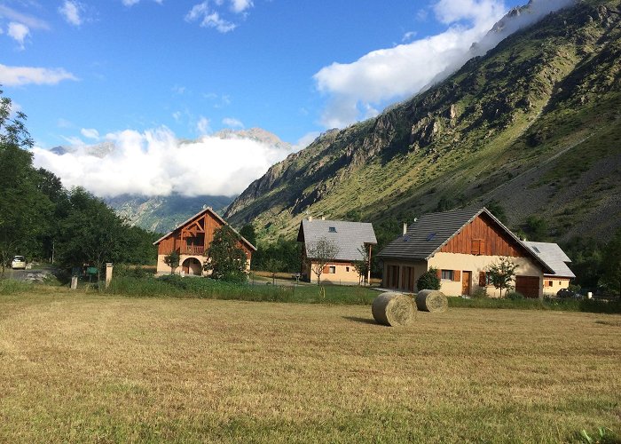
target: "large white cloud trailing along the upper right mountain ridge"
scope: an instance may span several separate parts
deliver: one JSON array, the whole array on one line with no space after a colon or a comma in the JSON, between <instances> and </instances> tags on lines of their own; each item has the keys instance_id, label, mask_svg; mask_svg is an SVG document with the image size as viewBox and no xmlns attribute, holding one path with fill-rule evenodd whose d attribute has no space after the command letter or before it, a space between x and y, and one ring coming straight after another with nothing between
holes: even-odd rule
<instances>
[{"instance_id":1,"label":"large white cloud trailing along the upper right mountain ridge","mask_svg":"<svg viewBox=\"0 0 621 444\"><path fill-rule=\"evenodd\" d=\"M528 14L508 20L502 32L488 35L507 11L502 0L438 0L432 11L448 26L443 33L369 52L352 63L333 63L313 76L318 91L328 97L321 122L326 128L342 128L373 116L378 108L442 80L517 28L571 1L532 0ZM422 19L421 12L419 16ZM474 43L476 49L471 50Z\"/></svg>"}]
</instances>

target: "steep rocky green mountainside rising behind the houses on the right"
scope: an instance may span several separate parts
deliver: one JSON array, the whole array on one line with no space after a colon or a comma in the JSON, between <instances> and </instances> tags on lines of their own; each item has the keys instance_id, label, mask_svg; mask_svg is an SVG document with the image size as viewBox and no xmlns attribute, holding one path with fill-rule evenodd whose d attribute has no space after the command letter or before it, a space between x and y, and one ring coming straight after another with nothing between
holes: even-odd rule
<instances>
[{"instance_id":1,"label":"steep rocky green mountainside rising behind the houses on the right","mask_svg":"<svg viewBox=\"0 0 621 444\"><path fill-rule=\"evenodd\" d=\"M492 204L514 228L545 221L556 241L606 239L621 225L620 22L618 0L549 13L413 99L326 131L225 218L270 240L307 214L388 223Z\"/></svg>"}]
</instances>

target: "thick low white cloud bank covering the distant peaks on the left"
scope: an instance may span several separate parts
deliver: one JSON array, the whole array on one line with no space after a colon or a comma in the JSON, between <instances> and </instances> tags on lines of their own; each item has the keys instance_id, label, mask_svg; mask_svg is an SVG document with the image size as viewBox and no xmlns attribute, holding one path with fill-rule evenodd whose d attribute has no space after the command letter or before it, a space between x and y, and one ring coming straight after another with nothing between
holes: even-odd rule
<instances>
[{"instance_id":1,"label":"thick low white cloud bank covering the distant peaks on the left","mask_svg":"<svg viewBox=\"0 0 621 444\"><path fill-rule=\"evenodd\" d=\"M36 167L63 185L84 186L101 197L119 194L234 195L291 153L254 139L203 137L179 141L167 128L106 135L109 155L97 156L79 139L74 152L55 155L35 147Z\"/></svg>"}]
</instances>

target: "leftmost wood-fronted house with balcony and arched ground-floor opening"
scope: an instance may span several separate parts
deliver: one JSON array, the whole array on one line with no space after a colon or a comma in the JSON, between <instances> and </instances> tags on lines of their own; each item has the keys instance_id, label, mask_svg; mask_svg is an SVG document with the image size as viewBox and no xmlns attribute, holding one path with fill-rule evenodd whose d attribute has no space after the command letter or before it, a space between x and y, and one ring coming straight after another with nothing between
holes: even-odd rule
<instances>
[{"instance_id":1,"label":"leftmost wood-fronted house with balcony and arched ground-floor opening","mask_svg":"<svg viewBox=\"0 0 621 444\"><path fill-rule=\"evenodd\" d=\"M252 253L256 251L256 247L232 228L216 211L207 207L177 226L169 234L153 242L153 245L157 245L157 273L170 273L170 267L166 265L164 258L173 251L177 251L180 260L179 266L174 270L175 274L204 275L203 266L209 259L207 256L209 245L214 239L216 229L221 226L229 226L240 236L239 246L246 253L249 269Z\"/></svg>"}]
</instances>

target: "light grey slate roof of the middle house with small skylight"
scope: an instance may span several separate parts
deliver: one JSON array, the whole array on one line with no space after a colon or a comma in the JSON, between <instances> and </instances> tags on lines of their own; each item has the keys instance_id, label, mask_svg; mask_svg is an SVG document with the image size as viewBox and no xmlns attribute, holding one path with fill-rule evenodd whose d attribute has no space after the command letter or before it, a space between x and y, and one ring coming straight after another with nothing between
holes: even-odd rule
<instances>
[{"instance_id":1,"label":"light grey slate roof of the middle house with small skylight","mask_svg":"<svg viewBox=\"0 0 621 444\"><path fill-rule=\"evenodd\" d=\"M334 228L334 231L330 230ZM339 247L336 260L355 261L363 257L358 251L364 244L377 244L373 225L367 222L348 222L345 220L303 219L297 241L304 242L306 251L311 250L315 242L325 237Z\"/></svg>"}]
</instances>

